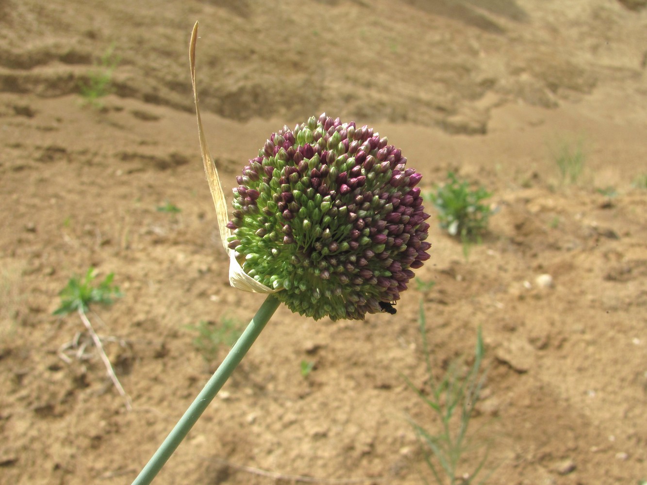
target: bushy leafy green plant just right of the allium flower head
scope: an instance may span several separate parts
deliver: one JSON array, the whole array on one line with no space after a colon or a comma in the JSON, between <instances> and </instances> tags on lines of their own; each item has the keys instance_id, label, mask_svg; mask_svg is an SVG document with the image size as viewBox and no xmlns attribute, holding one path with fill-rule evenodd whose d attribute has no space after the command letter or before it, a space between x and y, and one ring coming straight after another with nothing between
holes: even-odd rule
<instances>
[{"instance_id":1,"label":"bushy leafy green plant just right of the allium flower head","mask_svg":"<svg viewBox=\"0 0 647 485\"><path fill-rule=\"evenodd\" d=\"M460 237L464 244L479 242L494 213L481 201L492 193L483 187L471 189L466 180L458 180L453 172L449 172L447 178L447 182L429 196L438 211L440 226L450 235Z\"/></svg>"}]
</instances>

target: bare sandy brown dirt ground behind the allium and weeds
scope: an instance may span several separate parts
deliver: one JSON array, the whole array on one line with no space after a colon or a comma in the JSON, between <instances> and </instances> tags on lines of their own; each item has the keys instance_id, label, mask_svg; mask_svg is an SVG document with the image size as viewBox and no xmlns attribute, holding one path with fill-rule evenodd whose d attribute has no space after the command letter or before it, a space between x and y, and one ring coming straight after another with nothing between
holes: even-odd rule
<instances>
[{"instance_id":1,"label":"bare sandy brown dirt ground behind the allium and weeds","mask_svg":"<svg viewBox=\"0 0 647 485\"><path fill-rule=\"evenodd\" d=\"M196 20L228 193L272 131L325 111L388 136L424 190L454 169L499 212L468 259L432 222L417 276L435 286L405 292L396 316L281 307L156 483L421 483L408 416L438 424L403 378L428 390L420 301L436 377L483 329L472 426L492 442L489 483L647 479L647 191L632 185L647 174L643 7L0 1L0 482L131 482L208 379L186 326L247 322L263 301L227 282L192 113ZM111 46L113 94L83 105ZM572 185L555 162L564 143L585 155ZM166 201L181 212L157 211ZM58 292L90 266L124 292L91 318L131 412L93 349L58 356L83 331L52 316Z\"/></svg>"}]
</instances>

